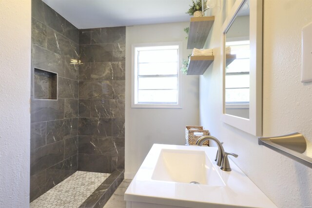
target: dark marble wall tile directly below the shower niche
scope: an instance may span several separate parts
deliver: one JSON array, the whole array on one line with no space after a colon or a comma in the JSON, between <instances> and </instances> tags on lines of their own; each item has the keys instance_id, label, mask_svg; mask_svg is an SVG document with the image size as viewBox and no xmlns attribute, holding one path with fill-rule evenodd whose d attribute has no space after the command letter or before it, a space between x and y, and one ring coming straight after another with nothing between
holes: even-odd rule
<instances>
[{"instance_id":1,"label":"dark marble wall tile directly below the shower niche","mask_svg":"<svg viewBox=\"0 0 312 208\"><path fill-rule=\"evenodd\" d=\"M64 118L64 99L31 100L30 120L32 123Z\"/></svg>"}]
</instances>

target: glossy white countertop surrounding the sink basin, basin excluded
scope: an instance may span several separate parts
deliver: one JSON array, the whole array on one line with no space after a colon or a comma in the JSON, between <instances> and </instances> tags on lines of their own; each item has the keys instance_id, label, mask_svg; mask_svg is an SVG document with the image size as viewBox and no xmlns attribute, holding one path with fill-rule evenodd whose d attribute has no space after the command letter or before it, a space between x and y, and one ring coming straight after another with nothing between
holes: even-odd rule
<instances>
[{"instance_id":1,"label":"glossy white countertop surrounding the sink basin, basin excluded","mask_svg":"<svg viewBox=\"0 0 312 208\"><path fill-rule=\"evenodd\" d=\"M152 174L162 149L205 151L213 161L225 186L152 180ZM154 144L126 190L124 199L189 208L203 208L209 205L213 208L277 208L233 161L230 160L232 171L220 170L214 161L216 151L215 147Z\"/></svg>"}]
</instances>

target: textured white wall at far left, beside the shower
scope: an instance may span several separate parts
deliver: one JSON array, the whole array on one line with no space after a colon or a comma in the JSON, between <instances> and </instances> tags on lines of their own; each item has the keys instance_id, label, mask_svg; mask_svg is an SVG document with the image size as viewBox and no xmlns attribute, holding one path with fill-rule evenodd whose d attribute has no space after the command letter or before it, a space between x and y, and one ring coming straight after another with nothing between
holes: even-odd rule
<instances>
[{"instance_id":1,"label":"textured white wall at far left, beside the shower","mask_svg":"<svg viewBox=\"0 0 312 208\"><path fill-rule=\"evenodd\" d=\"M0 208L29 207L31 0L0 0Z\"/></svg>"}]
</instances>

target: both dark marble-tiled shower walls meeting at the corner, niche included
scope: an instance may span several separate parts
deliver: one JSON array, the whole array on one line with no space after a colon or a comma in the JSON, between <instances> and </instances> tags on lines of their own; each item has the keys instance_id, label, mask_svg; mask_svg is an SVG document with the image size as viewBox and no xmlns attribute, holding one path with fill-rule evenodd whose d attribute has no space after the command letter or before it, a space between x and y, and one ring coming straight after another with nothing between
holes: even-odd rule
<instances>
[{"instance_id":1,"label":"both dark marble-tiled shower walls meeting at the corner, niche included","mask_svg":"<svg viewBox=\"0 0 312 208\"><path fill-rule=\"evenodd\" d=\"M120 181L125 27L79 30L32 0L31 60L30 201L77 170Z\"/></svg>"}]
</instances>

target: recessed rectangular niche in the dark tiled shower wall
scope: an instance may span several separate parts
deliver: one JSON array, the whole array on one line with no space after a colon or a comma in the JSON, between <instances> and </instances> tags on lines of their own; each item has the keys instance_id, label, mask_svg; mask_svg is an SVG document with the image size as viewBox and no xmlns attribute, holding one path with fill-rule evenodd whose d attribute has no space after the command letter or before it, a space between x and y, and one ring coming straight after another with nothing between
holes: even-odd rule
<instances>
[{"instance_id":1,"label":"recessed rectangular niche in the dark tiled shower wall","mask_svg":"<svg viewBox=\"0 0 312 208\"><path fill-rule=\"evenodd\" d=\"M58 74L34 69L34 98L35 99L58 99Z\"/></svg>"}]
</instances>

